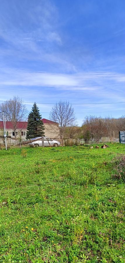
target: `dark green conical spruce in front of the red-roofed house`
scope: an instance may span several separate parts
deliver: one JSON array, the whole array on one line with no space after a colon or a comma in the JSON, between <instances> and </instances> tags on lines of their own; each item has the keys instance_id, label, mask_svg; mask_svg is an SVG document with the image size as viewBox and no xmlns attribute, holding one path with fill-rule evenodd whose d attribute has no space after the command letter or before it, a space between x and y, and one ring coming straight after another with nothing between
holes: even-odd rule
<instances>
[{"instance_id":1,"label":"dark green conical spruce in front of the red-roofed house","mask_svg":"<svg viewBox=\"0 0 125 263\"><path fill-rule=\"evenodd\" d=\"M32 139L39 136L44 136L44 124L41 121L41 115L39 113L39 108L34 102L31 112L28 116L27 124L27 135L26 139Z\"/></svg>"}]
</instances>

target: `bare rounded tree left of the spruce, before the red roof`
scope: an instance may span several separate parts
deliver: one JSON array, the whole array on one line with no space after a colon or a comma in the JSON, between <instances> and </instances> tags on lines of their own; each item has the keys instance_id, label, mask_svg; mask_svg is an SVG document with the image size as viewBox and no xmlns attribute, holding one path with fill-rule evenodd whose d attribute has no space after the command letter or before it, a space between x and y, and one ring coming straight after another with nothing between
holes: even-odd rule
<instances>
[{"instance_id":1,"label":"bare rounded tree left of the spruce, before the red roof","mask_svg":"<svg viewBox=\"0 0 125 263\"><path fill-rule=\"evenodd\" d=\"M5 101L4 103L0 104L0 112L2 111L5 112L6 121L12 122L14 136L16 139L16 129L18 127L18 123L21 121L25 121L27 117L26 105L23 104L22 98L14 96L13 99L9 99L8 101ZM2 120L1 114L0 119Z\"/></svg>"}]
</instances>

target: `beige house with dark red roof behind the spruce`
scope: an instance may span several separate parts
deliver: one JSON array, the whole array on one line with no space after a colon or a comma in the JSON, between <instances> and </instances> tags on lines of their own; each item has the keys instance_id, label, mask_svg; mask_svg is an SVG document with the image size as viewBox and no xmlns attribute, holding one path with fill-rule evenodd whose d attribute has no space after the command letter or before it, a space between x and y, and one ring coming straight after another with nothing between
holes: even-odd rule
<instances>
[{"instance_id":1,"label":"beige house with dark red roof behind the spruce","mask_svg":"<svg viewBox=\"0 0 125 263\"><path fill-rule=\"evenodd\" d=\"M48 138L54 139L54 138L60 138L59 133L59 124L56 122L53 122L51 120L47 119L41 119L45 126L45 135ZM21 135L22 139L26 139L26 133L27 133L27 124L28 122L18 122L17 123L17 129L16 134L17 137ZM3 121L0 121L0 133L2 134L4 132L4 124ZM12 139L15 138L14 131L13 131L13 123L6 121L6 135L11 136Z\"/></svg>"}]
</instances>

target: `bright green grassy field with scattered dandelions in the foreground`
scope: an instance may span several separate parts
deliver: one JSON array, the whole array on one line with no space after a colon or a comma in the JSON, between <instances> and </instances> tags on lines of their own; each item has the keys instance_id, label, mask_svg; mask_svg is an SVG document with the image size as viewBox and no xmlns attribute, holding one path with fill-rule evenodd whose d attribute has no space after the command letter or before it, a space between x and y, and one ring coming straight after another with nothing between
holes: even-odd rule
<instances>
[{"instance_id":1,"label":"bright green grassy field with scattered dandelions in the foreground","mask_svg":"<svg viewBox=\"0 0 125 263\"><path fill-rule=\"evenodd\" d=\"M0 150L0 262L124 262L125 145L25 151Z\"/></svg>"}]
</instances>

